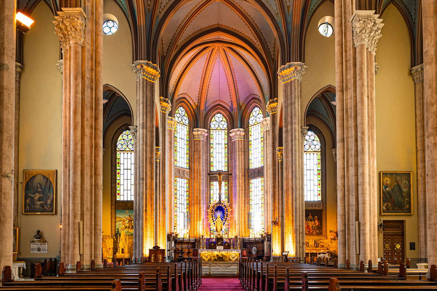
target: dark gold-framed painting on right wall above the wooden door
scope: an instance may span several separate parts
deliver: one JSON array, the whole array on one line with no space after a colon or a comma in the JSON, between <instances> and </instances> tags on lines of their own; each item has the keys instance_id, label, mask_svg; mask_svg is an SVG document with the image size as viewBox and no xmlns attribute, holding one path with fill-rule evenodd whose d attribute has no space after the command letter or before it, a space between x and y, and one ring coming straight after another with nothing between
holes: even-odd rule
<instances>
[{"instance_id":1,"label":"dark gold-framed painting on right wall above the wooden door","mask_svg":"<svg viewBox=\"0 0 437 291\"><path fill-rule=\"evenodd\" d=\"M381 171L380 183L382 215L413 214L411 172Z\"/></svg>"}]
</instances>

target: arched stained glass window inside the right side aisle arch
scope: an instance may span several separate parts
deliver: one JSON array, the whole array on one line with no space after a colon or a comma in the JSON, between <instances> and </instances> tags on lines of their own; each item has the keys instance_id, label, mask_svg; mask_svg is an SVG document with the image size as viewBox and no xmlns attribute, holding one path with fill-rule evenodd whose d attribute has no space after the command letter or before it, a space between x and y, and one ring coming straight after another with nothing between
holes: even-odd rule
<instances>
[{"instance_id":1,"label":"arched stained glass window inside the right side aisle arch","mask_svg":"<svg viewBox=\"0 0 437 291\"><path fill-rule=\"evenodd\" d=\"M303 144L305 201L321 201L320 148L319 137L313 131L308 130Z\"/></svg>"}]
</instances>

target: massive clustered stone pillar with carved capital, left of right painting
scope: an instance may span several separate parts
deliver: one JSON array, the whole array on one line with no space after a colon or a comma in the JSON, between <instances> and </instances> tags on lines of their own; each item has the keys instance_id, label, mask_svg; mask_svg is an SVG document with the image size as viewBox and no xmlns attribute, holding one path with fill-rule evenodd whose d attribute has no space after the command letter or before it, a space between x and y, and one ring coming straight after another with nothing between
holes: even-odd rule
<instances>
[{"instance_id":1,"label":"massive clustered stone pillar with carved capital, left of right painting","mask_svg":"<svg viewBox=\"0 0 437 291\"><path fill-rule=\"evenodd\" d=\"M383 24L349 2L336 3L335 13L338 256L355 268L378 252L374 55Z\"/></svg>"}]
</instances>

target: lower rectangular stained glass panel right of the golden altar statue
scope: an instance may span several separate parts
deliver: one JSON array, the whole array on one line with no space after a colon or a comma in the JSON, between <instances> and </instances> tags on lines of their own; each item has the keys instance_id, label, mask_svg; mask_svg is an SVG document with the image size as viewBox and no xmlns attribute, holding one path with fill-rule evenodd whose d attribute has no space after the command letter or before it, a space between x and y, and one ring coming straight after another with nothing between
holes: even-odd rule
<instances>
[{"instance_id":1,"label":"lower rectangular stained glass panel right of the golden altar statue","mask_svg":"<svg viewBox=\"0 0 437 291\"><path fill-rule=\"evenodd\" d=\"M251 237L264 233L264 178L249 180Z\"/></svg>"}]
</instances>

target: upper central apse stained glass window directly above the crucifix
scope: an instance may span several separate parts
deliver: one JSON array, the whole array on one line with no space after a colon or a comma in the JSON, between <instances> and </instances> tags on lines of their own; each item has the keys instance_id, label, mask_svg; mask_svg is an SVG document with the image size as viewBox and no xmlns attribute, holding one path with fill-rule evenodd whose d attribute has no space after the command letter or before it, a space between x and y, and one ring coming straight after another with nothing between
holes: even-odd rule
<instances>
[{"instance_id":1,"label":"upper central apse stained glass window directly above the crucifix","mask_svg":"<svg viewBox=\"0 0 437 291\"><path fill-rule=\"evenodd\" d=\"M211 119L210 124L211 171L228 170L228 122L221 113Z\"/></svg>"}]
</instances>

